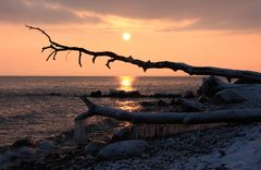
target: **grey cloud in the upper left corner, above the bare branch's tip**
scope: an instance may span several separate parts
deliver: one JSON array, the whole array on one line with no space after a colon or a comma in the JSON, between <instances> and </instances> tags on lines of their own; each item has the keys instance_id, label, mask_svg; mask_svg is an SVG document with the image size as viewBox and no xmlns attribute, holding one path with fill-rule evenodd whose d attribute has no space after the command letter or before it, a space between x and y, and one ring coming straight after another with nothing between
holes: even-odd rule
<instances>
[{"instance_id":1,"label":"grey cloud in the upper left corner, above the bare branch's tip","mask_svg":"<svg viewBox=\"0 0 261 170\"><path fill-rule=\"evenodd\" d=\"M78 16L73 10L44 0L1 0L0 22L9 23L97 23L96 16Z\"/></svg>"}]
</instances>

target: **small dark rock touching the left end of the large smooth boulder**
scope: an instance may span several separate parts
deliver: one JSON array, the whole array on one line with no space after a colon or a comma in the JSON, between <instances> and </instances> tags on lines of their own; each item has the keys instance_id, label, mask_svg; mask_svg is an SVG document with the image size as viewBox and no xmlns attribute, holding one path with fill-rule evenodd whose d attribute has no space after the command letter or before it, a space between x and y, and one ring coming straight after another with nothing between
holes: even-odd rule
<instances>
[{"instance_id":1,"label":"small dark rock touching the left end of the large smooth boulder","mask_svg":"<svg viewBox=\"0 0 261 170\"><path fill-rule=\"evenodd\" d=\"M91 142L85 147L85 153L87 156L96 157L97 154L107 146L104 142Z\"/></svg>"}]
</instances>

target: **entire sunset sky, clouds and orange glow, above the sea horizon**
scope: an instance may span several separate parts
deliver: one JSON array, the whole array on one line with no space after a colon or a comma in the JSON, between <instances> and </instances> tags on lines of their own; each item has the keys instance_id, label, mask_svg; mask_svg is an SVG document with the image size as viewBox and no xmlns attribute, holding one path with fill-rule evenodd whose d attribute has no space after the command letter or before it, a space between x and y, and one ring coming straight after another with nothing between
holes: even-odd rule
<instances>
[{"instance_id":1,"label":"entire sunset sky, clouds and orange glow, above the sea horizon","mask_svg":"<svg viewBox=\"0 0 261 170\"><path fill-rule=\"evenodd\" d=\"M150 61L261 72L260 0L1 0L0 75L186 75L76 52L46 62L48 39ZM124 40L123 33L130 39Z\"/></svg>"}]
</instances>

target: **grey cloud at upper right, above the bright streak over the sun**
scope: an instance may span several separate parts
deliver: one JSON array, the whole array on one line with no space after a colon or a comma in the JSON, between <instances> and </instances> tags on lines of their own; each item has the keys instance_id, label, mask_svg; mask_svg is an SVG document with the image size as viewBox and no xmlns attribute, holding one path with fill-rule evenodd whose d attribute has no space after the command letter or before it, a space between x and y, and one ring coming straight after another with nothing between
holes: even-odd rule
<instances>
[{"instance_id":1,"label":"grey cloud at upper right, above the bright streak over the sun","mask_svg":"<svg viewBox=\"0 0 261 170\"><path fill-rule=\"evenodd\" d=\"M198 20L188 29L261 28L260 0L58 0L75 10L139 20Z\"/></svg>"}]
</instances>

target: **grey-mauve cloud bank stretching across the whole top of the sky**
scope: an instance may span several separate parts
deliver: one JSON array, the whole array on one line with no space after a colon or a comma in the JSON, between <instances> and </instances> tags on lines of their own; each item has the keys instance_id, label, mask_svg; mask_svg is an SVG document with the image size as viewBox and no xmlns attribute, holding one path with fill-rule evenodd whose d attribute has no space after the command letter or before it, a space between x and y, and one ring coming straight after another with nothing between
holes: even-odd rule
<instances>
[{"instance_id":1,"label":"grey-mauve cloud bank stretching across the whole top of the sky","mask_svg":"<svg viewBox=\"0 0 261 170\"><path fill-rule=\"evenodd\" d=\"M12 23L105 24L109 16L129 21L167 21L162 31L260 29L260 0L1 0L0 20ZM195 22L197 21L197 22ZM174 26L173 26L174 25ZM110 26L110 25L109 25Z\"/></svg>"}]
</instances>

